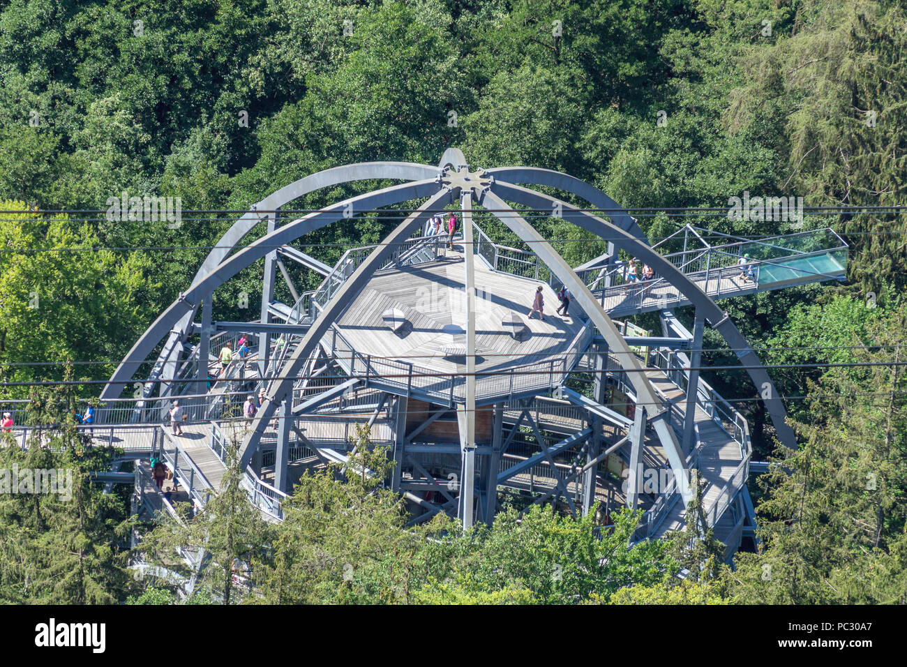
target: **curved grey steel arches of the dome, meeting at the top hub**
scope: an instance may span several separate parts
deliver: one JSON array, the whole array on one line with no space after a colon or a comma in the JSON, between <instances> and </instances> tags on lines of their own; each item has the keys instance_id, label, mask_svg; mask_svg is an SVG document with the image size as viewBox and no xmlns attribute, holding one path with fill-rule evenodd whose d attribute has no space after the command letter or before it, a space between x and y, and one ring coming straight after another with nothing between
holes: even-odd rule
<instances>
[{"instance_id":1,"label":"curved grey steel arches of the dome, meeting at the top hub","mask_svg":"<svg viewBox=\"0 0 907 667\"><path fill-rule=\"evenodd\" d=\"M279 211L281 207L287 206L288 203L310 192L342 183L364 180L400 180L405 182L382 190L370 191L350 197L321 211L308 213L293 221L283 222L280 220ZM569 192L582 200L588 201L593 209L608 211L607 218L582 210L567 201L562 201L540 191L522 187L522 185L517 183L550 186L558 191ZM327 302L319 306L319 310L316 313L317 317L308 324L304 335L298 337L295 345L292 348L288 346L288 349L283 350L281 355L270 360L275 367L275 371L269 374L274 377L267 387L269 400L258 411L258 415L254 417L248 435L244 437L241 443L240 458L243 466L249 464L258 450L265 429L274 419L275 411L278 407L285 406L280 408L282 410L281 414L285 416L288 415L288 412L283 410L286 410L287 407L295 415L305 414L308 410L314 410L344 391L356 386L359 380L352 378L346 383L329 388L323 394L313 397L303 407L293 407L293 391L295 388L298 389L300 385L297 378L309 378L315 372L314 368L320 354L320 341L329 333L332 325L341 318L345 309L366 287L375 271L381 269L395 252L395 249L405 244L405 241L409 240L415 231L423 228L425 222L431 216L440 213L447 204L458 200L463 210L464 248L471 248L473 244L473 203L481 205L484 209L492 211L513 233L529 244L541 262L551 270L557 280L571 290L579 308L590 319L595 329L598 330L600 338L603 338L604 344L607 345L610 357L617 360L623 377L626 378L627 384L632 387L637 403L635 418L626 420L627 424L625 425L628 430L628 437L630 440L635 440L633 453L630 456L631 466L638 463L642 456L640 445L642 433L645 432L647 427L650 427L658 436L658 441L668 457L668 463L675 479L683 480L684 482L688 480L688 457L685 456L681 442L678 442L675 429L670 426L669 407L658 397L658 392L652 386L645 369L639 362L639 358L629 348L627 341L621 335L615 323L609 318L599 300L593 296L586 283L580 280L577 273L551 247L551 244L543 239L539 232L532 227L532 224L526 221L521 213L514 210L508 202L521 204L532 210L555 211L563 220L570 221L591 234L608 241L609 252L607 257L610 259L615 258L617 249L620 249L627 251L632 257L648 263L663 280L667 280L674 289L677 289L695 306L697 309L697 321L707 321L713 329L716 329L725 338L727 345L736 350L737 356L743 362L759 395L765 402L778 436L787 446L795 446L794 434L791 428L785 424L785 407L781 397L775 391L772 380L768 377L766 369L763 368L759 358L756 357L756 354L749 347L746 339L734 323L727 317L727 313L720 309L715 301L707 296L707 293L700 289L693 280L690 280L682 270L679 270L673 263L659 254L657 250L654 250L649 245L645 234L639 229L636 221L628 213L622 211L615 201L612 201L607 195L590 184L561 172L531 167L503 167L471 171L463 158L463 153L453 148L444 152L441 162L436 167L410 162L365 162L317 172L281 188L252 206L250 211L236 221L229 231L224 234L216 244L215 249L210 251L189 288L182 292L180 297L169 308L164 310L161 316L136 341L113 373L108 384L104 387L102 399L111 400L120 397L124 387L136 381L133 376L137 369L142 364L147 363L149 356L161 344L161 341L163 341L163 346L151 377L147 379L141 378L140 380L146 384L143 396L138 398L136 402L136 415L140 414L141 410L139 408L142 402L150 399L156 385L168 387L169 383L174 380L184 346L188 338L193 334L197 334L199 330L202 332L202 342L196 354L200 360L208 359L210 352L210 304L212 292L236 276L239 271L246 269L261 259L266 260L262 317L261 324L258 325L259 348L264 350L264 354L259 356L259 359L264 358L264 366L261 368L261 376L264 378L268 375L266 367L268 365L269 339L278 331L283 330L280 325L268 323L269 301L273 297L275 268L278 268L284 274L294 299L298 299L299 295L293 289L291 281L288 280L282 258L296 260L322 275L327 275L331 270L327 265L308 257L288 244L297 240L305 240L307 234L333 222L344 220L350 217L351 213L373 211L406 201L420 200L424 200L424 203L412 211L394 231L391 231L381 244L375 246L366 259L357 264L356 269L351 275L346 277L346 280L339 286L339 289L333 292ZM262 221L267 221L268 232L258 240L240 247L239 243L249 231ZM473 252L464 251L463 254L466 296L467 299L474 299ZM204 308L199 329L199 325L195 324L194 320L201 303L204 303ZM471 480L473 477L473 456L476 448L474 436L476 408L474 376L475 316L472 309L468 309L467 314L465 400L453 410L456 413L460 427L463 480L467 478ZM237 324L237 327L243 326L245 325ZM701 347L701 329L697 330L697 338ZM199 368L204 366L203 361L200 361ZM322 366L319 368L327 367ZM165 395L165 391L166 388L161 390L161 396ZM572 395L571 400L580 406L590 404L588 407L593 411L593 415L607 416L605 412L602 412L608 409L601 405L602 400L590 401L590 399L580 397L580 395L575 393ZM397 407L396 413L399 419L399 400L394 403ZM385 405L389 404L389 395L382 397L380 405L375 410L375 416ZM600 412L595 413L595 410ZM436 416L428 417L425 426L431 422L432 417ZM290 422L291 420L285 419L284 421ZM542 444L542 451L537 455L538 458L528 459L528 462L523 462L501 474L494 473L486 476L486 484L489 486L489 490L492 490L493 485L499 481L506 479L508 475L518 474L521 467L532 466L536 460L547 460L551 463L553 469L554 462L551 456L567 447L583 446L584 448L580 451L587 455L590 454L585 449L587 441L590 439L590 429L588 428L575 436L565 438L560 443L545 446L540 429L529 417L528 412L521 415L520 422L523 426L532 427L539 442ZM517 426L520 426L520 424L518 423ZM281 424L280 430L286 436L288 431L293 428L292 423L286 426ZM300 442L305 439L305 436L298 432L298 429L297 437L301 438L298 440ZM623 444L625 441L626 438L620 441L619 444ZM504 444L504 448L506 448L506 444ZM611 447L611 450L613 448ZM592 455L595 463L601 460L602 456L605 456L599 450L593 452ZM415 469L418 470L420 465L417 461L414 461L414 463ZM577 471L572 472L570 475L562 478L558 477L557 488L552 493L565 497L571 505L571 509L573 509L573 501L567 493L566 484L580 475L587 474L590 465L580 466ZM432 477L424 469L420 471L420 474L426 479ZM464 523L468 524L471 521L471 519L466 519L465 517L472 517L475 514L473 511L472 490L465 495L463 493L454 495L451 493L450 488L443 484L434 484L433 488L443 496L444 502L440 504L428 503L411 495L413 496L411 499L425 509L424 515L417 517L416 520L423 520L438 511L450 511L454 505L459 504L457 514L464 517ZM683 500L686 503L690 494L689 485L687 483L681 484L680 489ZM550 495L551 493L548 496ZM545 496L545 498L548 496ZM541 498L541 500L543 499ZM493 511L493 503L486 499L479 515L490 520Z\"/></svg>"}]
</instances>

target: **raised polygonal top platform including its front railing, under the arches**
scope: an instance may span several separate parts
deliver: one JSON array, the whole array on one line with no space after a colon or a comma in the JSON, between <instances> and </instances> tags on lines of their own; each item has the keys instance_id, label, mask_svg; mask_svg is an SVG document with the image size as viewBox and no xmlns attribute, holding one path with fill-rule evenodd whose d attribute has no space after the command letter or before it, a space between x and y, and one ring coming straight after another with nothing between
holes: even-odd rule
<instances>
[{"instance_id":1,"label":"raised polygonal top platform including its front railing, under the arches","mask_svg":"<svg viewBox=\"0 0 907 667\"><path fill-rule=\"evenodd\" d=\"M560 384L592 337L580 309L574 305L572 316L561 317L549 284L481 261L474 275L477 398L487 402ZM544 319L538 313L530 319L539 286ZM402 314L402 326L388 324L389 310ZM375 386L462 401L466 312L463 254L447 250L444 258L376 272L322 346L350 375L367 374ZM514 320L522 325L520 336L514 336ZM511 374L514 369L519 373Z\"/></svg>"}]
</instances>

